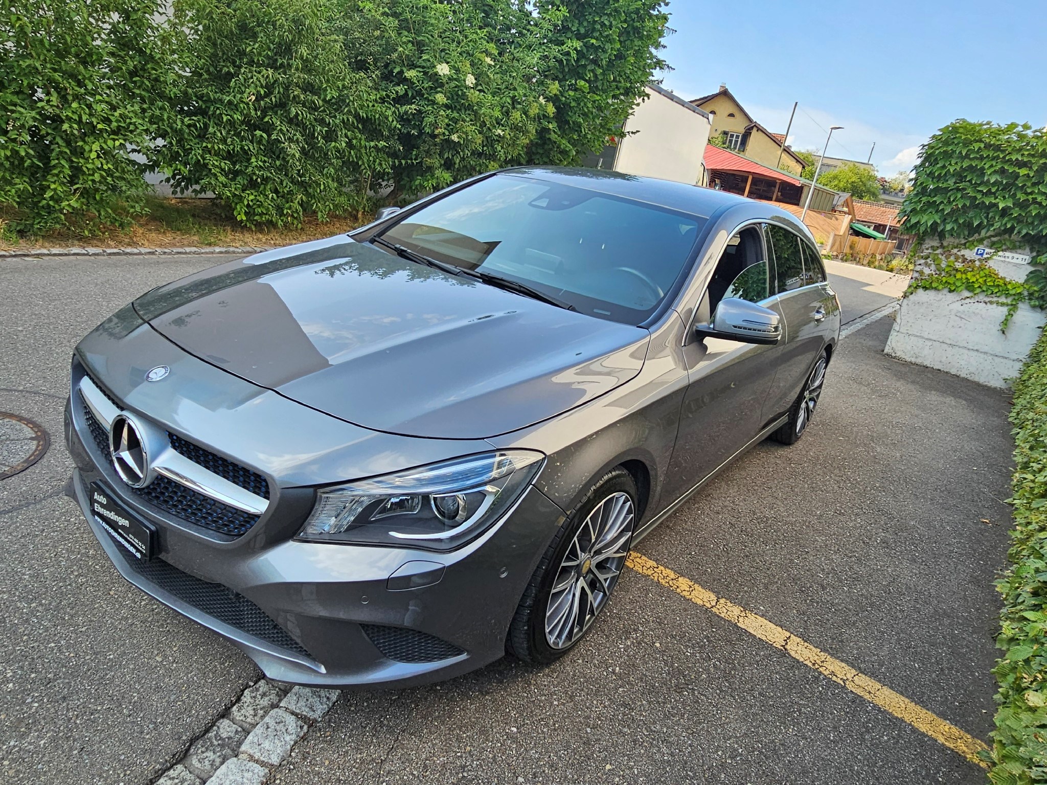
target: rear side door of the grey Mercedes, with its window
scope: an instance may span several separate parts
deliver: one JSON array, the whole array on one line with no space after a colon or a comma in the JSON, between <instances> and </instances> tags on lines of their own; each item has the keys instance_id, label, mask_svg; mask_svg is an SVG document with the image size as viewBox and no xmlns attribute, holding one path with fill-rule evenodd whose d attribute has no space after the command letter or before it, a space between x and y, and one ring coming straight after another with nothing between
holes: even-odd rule
<instances>
[{"instance_id":1,"label":"rear side door of the grey Mercedes, with its window","mask_svg":"<svg viewBox=\"0 0 1047 785\"><path fill-rule=\"evenodd\" d=\"M767 224L765 234L779 313L785 321L777 373L764 406L772 420L787 411L800 395L830 332L839 330L840 312L821 254L810 241L778 224Z\"/></svg>"}]
</instances>

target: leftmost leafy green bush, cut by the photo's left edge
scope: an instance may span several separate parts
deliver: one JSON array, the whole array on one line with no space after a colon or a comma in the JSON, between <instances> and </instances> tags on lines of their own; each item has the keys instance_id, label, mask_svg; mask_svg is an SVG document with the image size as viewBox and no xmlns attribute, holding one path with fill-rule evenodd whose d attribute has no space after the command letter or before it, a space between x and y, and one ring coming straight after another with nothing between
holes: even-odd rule
<instances>
[{"instance_id":1,"label":"leftmost leafy green bush, cut by the photo's left edge","mask_svg":"<svg viewBox=\"0 0 1047 785\"><path fill-rule=\"evenodd\" d=\"M170 72L158 9L0 0L0 211L16 230L91 232L142 210L129 152L152 139Z\"/></svg>"}]
</instances>

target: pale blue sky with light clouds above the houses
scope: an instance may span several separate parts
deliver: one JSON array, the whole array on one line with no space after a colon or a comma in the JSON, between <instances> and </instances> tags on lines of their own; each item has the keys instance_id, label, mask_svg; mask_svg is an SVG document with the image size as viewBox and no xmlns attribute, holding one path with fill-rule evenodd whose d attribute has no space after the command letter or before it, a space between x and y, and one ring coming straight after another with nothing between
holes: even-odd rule
<instances>
[{"instance_id":1,"label":"pale blue sky with light clouds above the houses","mask_svg":"<svg viewBox=\"0 0 1047 785\"><path fill-rule=\"evenodd\" d=\"M690 99L726 82L789 143L911 167L957 117L1047 125L1047 0L876 3L672 0L665 87ZM824 130L823 130L824 129Z\"/></svg>"}]
</instances>

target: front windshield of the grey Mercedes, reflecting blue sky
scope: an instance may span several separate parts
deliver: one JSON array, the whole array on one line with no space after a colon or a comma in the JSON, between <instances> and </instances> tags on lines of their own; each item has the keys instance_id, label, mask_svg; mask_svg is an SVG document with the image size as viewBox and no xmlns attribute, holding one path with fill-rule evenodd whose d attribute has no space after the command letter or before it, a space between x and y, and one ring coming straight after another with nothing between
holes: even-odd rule
<instances>
[{"instance_id":1,"label":"front windshield of the grey Mercedes, reflecting blue sky","mask_svg":"<svg viewBox=\"0 0 1047 785\"><path fill-rule=\"evenodd\" d=\"M704 219L515 175L423 207L383 240L526 284L580 313L628 324L680 276Z\"/></svg>"}]
</instances>

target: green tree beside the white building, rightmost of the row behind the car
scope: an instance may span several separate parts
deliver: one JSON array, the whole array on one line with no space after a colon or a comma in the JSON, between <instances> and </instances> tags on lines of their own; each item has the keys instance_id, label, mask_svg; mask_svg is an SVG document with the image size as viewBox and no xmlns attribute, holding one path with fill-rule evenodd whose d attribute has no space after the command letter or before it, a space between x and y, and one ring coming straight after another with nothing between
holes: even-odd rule
<instances>
[{"instance_id":1,"label":"green tree beside the white building, rightmost of the row behind the car","mask_svg":"<svg viewBox=\"0 0 1047 785\"><path fill-rule=\"evenodd\" d=\"M577 163L601 150L632 112L658 70L667 68L664 0L535 0L552 23L541 71L555 124L531 147L537 163Z\"/></svg>"}]
</instances>

